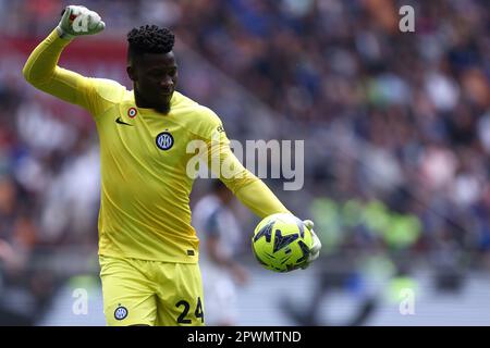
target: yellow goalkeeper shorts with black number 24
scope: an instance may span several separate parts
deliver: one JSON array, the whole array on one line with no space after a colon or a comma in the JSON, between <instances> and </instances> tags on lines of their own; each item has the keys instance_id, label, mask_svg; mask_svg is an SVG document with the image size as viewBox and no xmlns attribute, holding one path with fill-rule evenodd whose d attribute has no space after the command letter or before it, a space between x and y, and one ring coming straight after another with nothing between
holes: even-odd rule
<instances>
[{"instance_id":1,"label":"yellow goalkeeper shorts with black number 24","mask_svg":"<svg viewBox=\"0 0 490 348\"><path fill-rule=\"evenodd\" d=\"M109 326L205 324L197 263L99 256L103 312Z\"/></svg>"}]
</instances>

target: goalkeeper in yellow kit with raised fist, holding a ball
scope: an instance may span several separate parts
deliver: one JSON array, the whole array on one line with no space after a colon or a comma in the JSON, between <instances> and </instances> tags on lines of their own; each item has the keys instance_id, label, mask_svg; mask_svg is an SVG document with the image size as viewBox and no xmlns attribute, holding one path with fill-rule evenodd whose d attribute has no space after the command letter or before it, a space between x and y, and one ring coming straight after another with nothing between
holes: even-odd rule
<instances>
[{"instance_id":1,"label":"goalkeeper in yellow kit with raised fist, holding a ball","mask_svg":"<svg viewBox=\"0 0 490 348\"><path fill-rule=\"evenodd\" d=\"M186 152L187 144L208 145L203 158L211 169L211 159L232 164L235 175L218 173L220 179L258 216L287 209L234 157L220 119L175 90L177 65L169 29L146 25L127 34L126 70L133 90L58 66L74 38L103 28L96 12L66 7L23 73L36 88L86 109L96 123L101 161L99 262L107 322L204 325L198 238L189 210L194 179L186 171L194 154ZM212 141L219 146L211 147ZM303 268L319 249L315 238Z\"/></svg>"}]
</instances>

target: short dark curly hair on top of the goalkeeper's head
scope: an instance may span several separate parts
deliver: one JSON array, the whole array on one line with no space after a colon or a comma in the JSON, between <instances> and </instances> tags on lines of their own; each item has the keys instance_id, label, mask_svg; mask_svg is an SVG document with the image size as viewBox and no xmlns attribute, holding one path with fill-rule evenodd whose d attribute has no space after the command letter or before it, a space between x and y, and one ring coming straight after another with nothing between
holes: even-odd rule
<instances>
[{"instance_id":1,"label":"short dark curly hair on top of the goalkeeper's head","mask_svg":"<svg viewBox=\"0 0 490 348\"><path fill-rule=\"evenodd\" d=\"M169 53L175 44L173 33L158 25L143 25L127 33L128 58L143 53Z\"/></svg>"}]
</instances>

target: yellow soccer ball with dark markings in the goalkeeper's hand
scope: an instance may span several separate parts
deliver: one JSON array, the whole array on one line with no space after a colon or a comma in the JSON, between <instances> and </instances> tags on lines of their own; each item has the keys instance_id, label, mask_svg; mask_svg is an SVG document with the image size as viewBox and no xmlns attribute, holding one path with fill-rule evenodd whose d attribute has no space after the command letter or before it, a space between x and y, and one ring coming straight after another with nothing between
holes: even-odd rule
<instances>
[{"instance_id":1,"label":"yellow soccer ball with dark markings in the goalkeeper's hand","mask_svg":"<svg viewBox=\"0 0 490 348\"><path fill-rule=\"evenodd\" d=\"M311 233L303 221L287 213L265 217L252 237L258 262L274 272L299 269L308 259L311 245Z\"/></svg>"}]
</instances>

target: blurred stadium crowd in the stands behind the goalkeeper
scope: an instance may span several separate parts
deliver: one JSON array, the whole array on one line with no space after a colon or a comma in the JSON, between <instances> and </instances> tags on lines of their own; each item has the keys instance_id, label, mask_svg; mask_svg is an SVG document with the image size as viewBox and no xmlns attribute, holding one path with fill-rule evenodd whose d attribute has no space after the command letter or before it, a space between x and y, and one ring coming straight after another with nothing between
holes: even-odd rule
<instances>
[{"instance_id":1,"label":"blurred stadium crowd in the stands behind the goalkeeper","mask_svg":"<svg viewBox=\"0 0 490 348\"><path fill-rule=\"evenodd\" d=\"M304 189L266 182L316 222L324 258L388 251L490 268L487 1L82 2L107 30L81 39L94 50L65 66L131 87L125 34L170 26L181 90L213 109L230 138L305 139ZM0 1L0 259L5 282L36 299L56 283L36 272L37 254L68 250L49 266L70 273L83 266L66 256L97 244L95 127L21 74L65 4ZM415 9L415 33L399 30L402 4ZM252 231L256 220L242 216Z\"/></svg>"}]
</instances>

